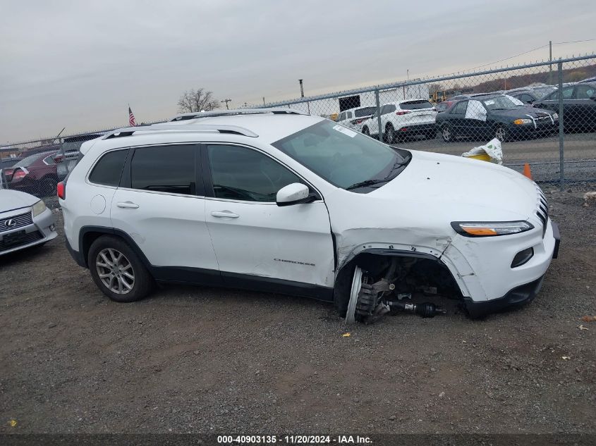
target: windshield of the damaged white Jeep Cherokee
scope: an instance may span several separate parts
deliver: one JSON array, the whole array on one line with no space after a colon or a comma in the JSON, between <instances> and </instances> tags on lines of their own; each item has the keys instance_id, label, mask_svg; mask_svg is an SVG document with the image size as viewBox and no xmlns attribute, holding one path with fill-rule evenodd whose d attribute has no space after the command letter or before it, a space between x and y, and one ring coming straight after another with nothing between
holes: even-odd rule
<instances>
[{"instance_id":1,"label":"windshield of the damaged white Jeep Cherokee","mask_svg":"<svg viewBox=\"0 0 596 446\"><path fill-rule=\"evenodd\" d=\"M329 120L272 145L332 185L350 190L360 189L356 185L362 182L380 187L395 178L411 157L406 150L392 149Z\"/></svg>"}]
</instances>

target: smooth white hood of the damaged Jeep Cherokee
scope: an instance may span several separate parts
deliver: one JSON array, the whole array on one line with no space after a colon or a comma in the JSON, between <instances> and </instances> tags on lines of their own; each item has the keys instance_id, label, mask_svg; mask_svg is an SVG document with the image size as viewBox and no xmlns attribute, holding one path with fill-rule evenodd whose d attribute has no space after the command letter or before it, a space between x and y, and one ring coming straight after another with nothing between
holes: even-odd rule
<instances>
[{"instance_id":1,"label":"smooth white hood of the damaged Jeep Cherokee","mask_svg":"<svg viewBox=\"0 0 596 446\"><path fill-rule=\"evenodd\" d=\"M367 194L337 190L327 201L336 234L407 230L420 237L454 235L451 221L526 220L535 211L535 183L509 168L459 156L412 151L408 166Z\"/></svg>"}]
</instances>

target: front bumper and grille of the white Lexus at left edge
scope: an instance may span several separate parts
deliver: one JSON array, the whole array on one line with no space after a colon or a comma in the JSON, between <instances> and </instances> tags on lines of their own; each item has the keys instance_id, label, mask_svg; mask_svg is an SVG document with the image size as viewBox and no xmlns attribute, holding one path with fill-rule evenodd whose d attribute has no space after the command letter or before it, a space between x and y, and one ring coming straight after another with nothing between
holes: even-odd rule
<instances>
[{"instance_id":1,"label":"front bumper and grille of the white Lexus at left edge","mask_svg":"<svg viewBox=\"0 0 596 446\"><path fill-rule=\"evenodd\" d=\"M10 213L2 213L0 214L0 220L4 221L8 218L23 216L27 212L30 213L30 209L18 209ZM18 242L15 243L14 239L11 240L11 238L16 234L19 237ZM30 223L27 225L20 225L18 228L0 232L0 256L49 242L54 240L57 235L54 215L49 209L46 209L35 218L31 218ZM8 242L8 240L11 241Z\"/></svg>"}]
</instances>

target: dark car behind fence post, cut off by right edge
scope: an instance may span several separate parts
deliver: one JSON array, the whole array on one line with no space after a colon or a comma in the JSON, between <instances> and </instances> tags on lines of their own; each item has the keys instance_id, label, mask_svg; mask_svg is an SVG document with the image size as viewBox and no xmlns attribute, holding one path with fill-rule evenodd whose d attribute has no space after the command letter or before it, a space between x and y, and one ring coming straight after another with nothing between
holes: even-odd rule
<instances>
[{"instance_id":1,"label":"dark car behind fence post, cut off by right edge","mask_svg":"<svg viewBox=\"0 0 596 446\"><path fill-rule=\"evenodd\" d=\"M559 90L535 101L535 107L559 111ZM565 131L596 130L596 82L581 82L563 87Z\"/></svg>"}]
</instances>

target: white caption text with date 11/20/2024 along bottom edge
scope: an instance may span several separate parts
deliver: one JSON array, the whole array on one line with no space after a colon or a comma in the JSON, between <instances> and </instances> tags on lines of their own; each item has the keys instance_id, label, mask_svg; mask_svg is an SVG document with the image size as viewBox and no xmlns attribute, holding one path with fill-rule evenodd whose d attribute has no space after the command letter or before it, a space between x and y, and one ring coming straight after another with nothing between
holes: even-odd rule
<instances>
[{"instance_id":1,"label":"white caption text with date 11/20/2024 along bottom edge","mask_svg":"<svg viewBox=\"0 0 596 446\"><path fill-rule=\"evenodd\" d=\"M372 440L360 435L218 435L220 445L367 445Z\"/></svg>"}]
</instances>

